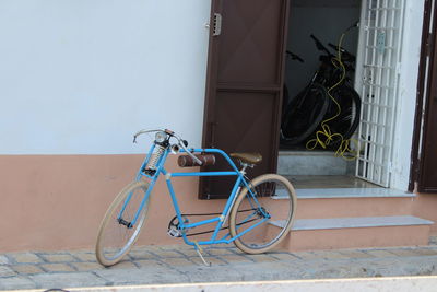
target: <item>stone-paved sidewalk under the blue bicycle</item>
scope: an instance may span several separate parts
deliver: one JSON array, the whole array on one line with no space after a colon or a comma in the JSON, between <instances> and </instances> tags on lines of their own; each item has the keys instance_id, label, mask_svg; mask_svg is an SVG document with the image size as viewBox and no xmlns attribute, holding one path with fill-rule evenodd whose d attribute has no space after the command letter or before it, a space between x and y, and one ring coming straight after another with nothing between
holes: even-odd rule
<instances>
[{"instance_id":1,"label":"stone-paved sidewalk under the blue bicycle","mask_svg":"<svg viewBox=\"0 0 437 292\"><path fill-rule=\"evenodd\" d=\"M263 281L437 275L437 238L429 246L246 255L234 246L135 247L104 268L91 250L0 255L0 290L96 285Z\"/></svg>"}]
</instances>

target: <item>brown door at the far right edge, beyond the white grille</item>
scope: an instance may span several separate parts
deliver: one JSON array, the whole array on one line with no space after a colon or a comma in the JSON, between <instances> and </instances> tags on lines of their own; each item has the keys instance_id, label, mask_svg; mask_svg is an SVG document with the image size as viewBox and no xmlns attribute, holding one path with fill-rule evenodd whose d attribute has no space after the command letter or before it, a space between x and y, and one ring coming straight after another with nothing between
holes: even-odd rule
<instances>
[{"instance_id":1,"label":"brown door at the far right edge, beyond the white grille","mask_svg":"<svg viewBox=\"0 0 437 292\"><path fill-rule=\"evenodd\" d=\"M432 9L434 7L434 13ZM437 7L425 1L410 190L437 194ZM434 16L434 20L432 17ZM433 27L429 30L430 24ZM423 110L425 108L425 110Z\"/></svg>"}]
</instances>

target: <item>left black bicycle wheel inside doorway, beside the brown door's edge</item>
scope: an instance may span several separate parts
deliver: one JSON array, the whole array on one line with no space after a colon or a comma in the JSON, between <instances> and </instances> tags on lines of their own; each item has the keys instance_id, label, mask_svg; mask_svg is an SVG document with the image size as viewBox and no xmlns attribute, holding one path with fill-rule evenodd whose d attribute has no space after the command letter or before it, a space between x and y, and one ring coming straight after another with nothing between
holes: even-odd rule
<instances>
[{"instance_id":1,"label":"left black bicycle wheel inside doorway, beside the brown door's edge","mask_svg":"<svg viewBox=\"0 0 437 292\"><path fill-rule=\"evenodd\" d=\"M290 102L281 122L281 144L296 145L315 132L329 105L327 90L311 84Z\"/></svg>"}]
</instances>

